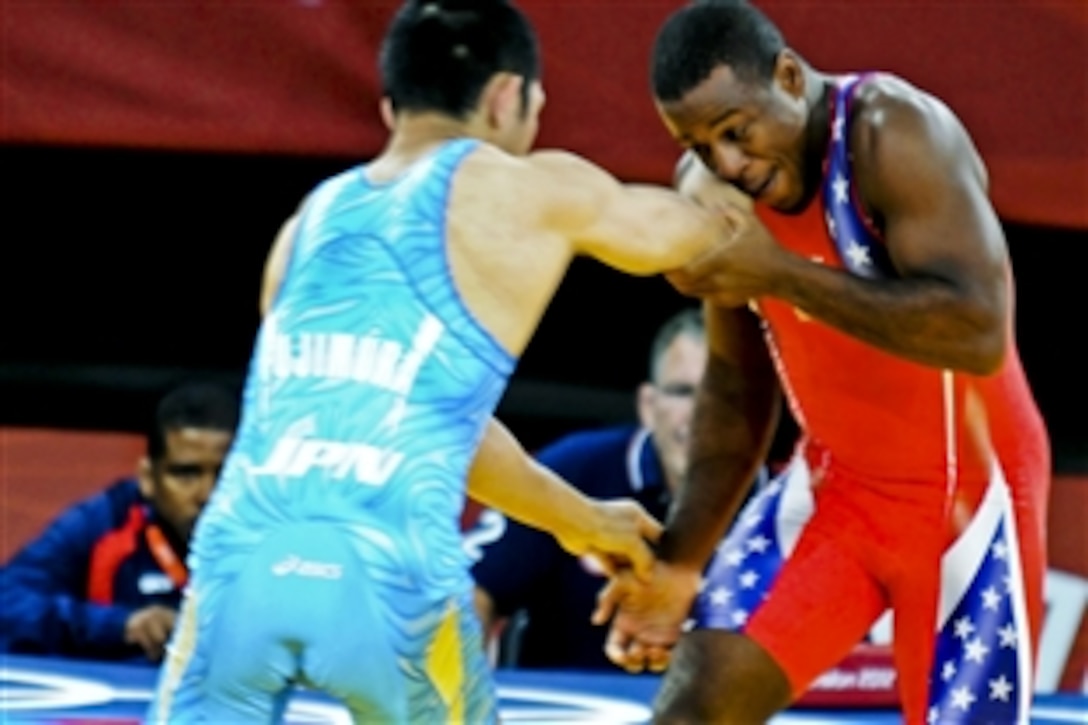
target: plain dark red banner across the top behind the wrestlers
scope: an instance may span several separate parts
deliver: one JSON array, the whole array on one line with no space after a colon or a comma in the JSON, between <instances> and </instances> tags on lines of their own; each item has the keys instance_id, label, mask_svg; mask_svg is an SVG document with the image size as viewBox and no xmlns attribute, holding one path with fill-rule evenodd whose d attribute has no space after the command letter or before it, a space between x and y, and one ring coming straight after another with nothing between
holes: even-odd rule
<instances>
[{"instance_id":1,"label":"plain dark red banner across the top behind the wrestlers","mask_svg":"<svg viewBox=\"0 0 1088 725\"><path fill-rule=\"evenodd\" d=\"M0 143L369 157L387 0L7 0ZM542 146L668 181L648 95L677 0L523 0L545 59ZM757 3L828 71L885 70L964 120L1011 221L1088 229L1088 3Z\"/></svg>"}]
</instances>

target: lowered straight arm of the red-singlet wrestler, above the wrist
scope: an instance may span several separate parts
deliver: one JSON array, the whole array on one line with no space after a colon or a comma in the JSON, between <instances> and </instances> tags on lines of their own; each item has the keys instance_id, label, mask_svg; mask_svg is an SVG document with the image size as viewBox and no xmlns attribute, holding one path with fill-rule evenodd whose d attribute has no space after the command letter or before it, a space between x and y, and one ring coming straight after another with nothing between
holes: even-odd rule
<instances>
[{"instance_id":1,"label":"lowered straight arm of the red-singlet wrestler, above the wrist","mask_svg":"<svg viewBox=\"0 0 1088 725\"><path fill-rule=\"evenodd\" d=\"M663 560L706 565L766 458L778 410L769 365L744 370L712 357L695 400L688 477L660 541Z\"/></svg>"}]
</instances>

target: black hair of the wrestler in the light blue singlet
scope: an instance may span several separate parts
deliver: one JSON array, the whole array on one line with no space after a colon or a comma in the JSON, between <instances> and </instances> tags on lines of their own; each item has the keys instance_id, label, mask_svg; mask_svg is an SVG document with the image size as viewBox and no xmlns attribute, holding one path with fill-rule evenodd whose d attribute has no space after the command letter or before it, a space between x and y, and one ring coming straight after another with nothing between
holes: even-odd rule
<instances>
[{"instance_id":1,"label":"black hair of the wrestler in the light blue singlet","mask_svg":"<svg viewBox=\"0 0 1088 725\"><path fill-rule=\"evenodd\" d=\"M536 35L507 0L408 0L381 50L382 85L395 111L437 111L463 119L496 73L540 77Z\"/></svg>"}]
</instances>

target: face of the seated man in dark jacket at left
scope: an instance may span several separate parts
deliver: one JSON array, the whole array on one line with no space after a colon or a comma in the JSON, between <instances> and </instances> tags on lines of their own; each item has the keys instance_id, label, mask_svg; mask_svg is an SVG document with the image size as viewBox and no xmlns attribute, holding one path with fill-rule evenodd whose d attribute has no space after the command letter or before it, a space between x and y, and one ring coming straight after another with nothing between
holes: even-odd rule
<instances>
[{"instance_id":1,"label":"face of the seated man in dark jacket at left","mask_svg":"<svg viewBox=\"0 0 1088 725\"><path fill-rule=\"evenodd\" d=\"M232 438L227 431L205 428L170 430L162 459L145 459L140 467L140 490L182 541L193 533Z\"/></svg>"}]
</instances>

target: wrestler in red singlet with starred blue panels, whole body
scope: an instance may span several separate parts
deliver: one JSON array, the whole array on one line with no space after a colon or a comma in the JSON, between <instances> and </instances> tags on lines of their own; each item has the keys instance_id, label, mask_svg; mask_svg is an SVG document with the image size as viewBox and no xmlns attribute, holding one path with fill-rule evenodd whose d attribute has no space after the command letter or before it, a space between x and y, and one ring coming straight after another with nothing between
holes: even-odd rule
<instances>
[{"instance_id":1,"label":"wrestler in red singlet with starred blue panels, whole body","mask_svg":"<svg viewBox=\"0 0 1088 725\"><path fill-rule=\"evenodd\" d=\"M668 663L656 723L764 722L890 610L911 725L1026 722L1050 454L969 133L905 81L814 69L745 0L676 10L652 84L701 161L679 186L735 225L668 275L710 355L654 581L602 598L609 656ZM719 542L779 391L796 454Z\"/></svg>"}]
</instances>

